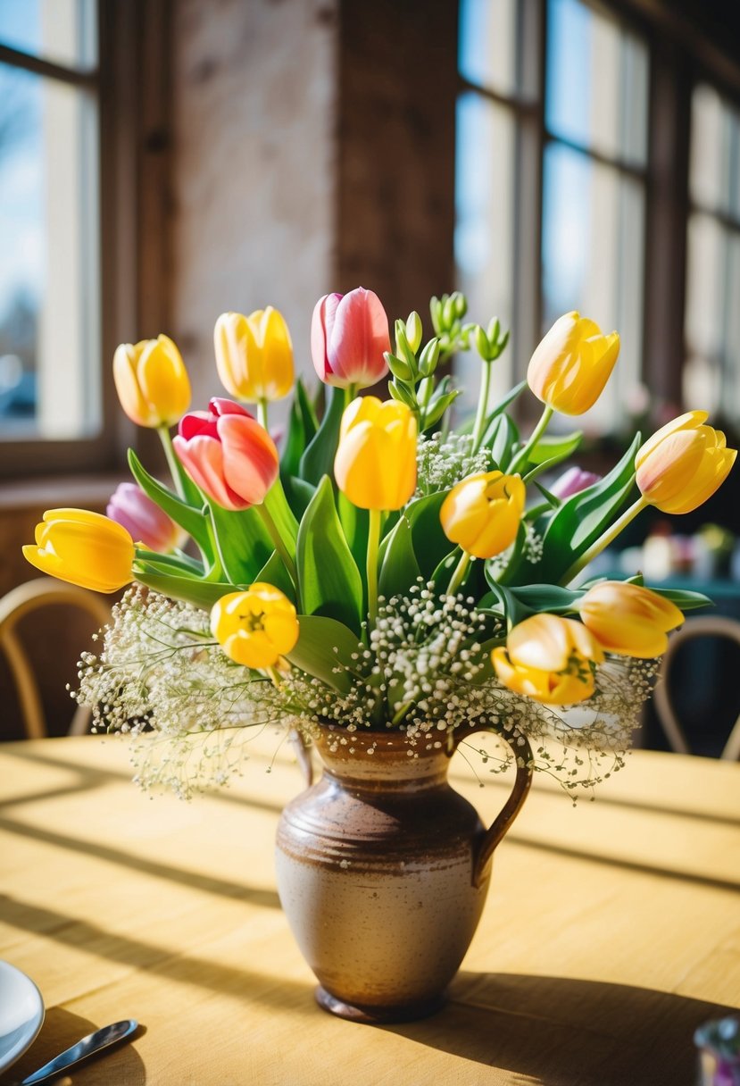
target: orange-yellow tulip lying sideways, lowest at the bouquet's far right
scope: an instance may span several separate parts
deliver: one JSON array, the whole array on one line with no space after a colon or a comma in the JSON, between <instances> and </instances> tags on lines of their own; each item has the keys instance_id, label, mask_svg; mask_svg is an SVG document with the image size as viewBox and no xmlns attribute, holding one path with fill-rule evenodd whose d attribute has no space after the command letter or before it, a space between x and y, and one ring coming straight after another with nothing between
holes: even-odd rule
<instances>
[{"instance_id":1,"label":"orange-yellow tulip lying sideways, lowest at the bouquet's far right","mask_svg":"<svg viewBox=\"0 0 740 1086\"><path fill-rule=\"evenodd\" d=\"M584 626L608 653L652 659L668 645L667 633L684 621L669 599L639 584L600 581L578 606Z\"/></svg>"}]
</instances>

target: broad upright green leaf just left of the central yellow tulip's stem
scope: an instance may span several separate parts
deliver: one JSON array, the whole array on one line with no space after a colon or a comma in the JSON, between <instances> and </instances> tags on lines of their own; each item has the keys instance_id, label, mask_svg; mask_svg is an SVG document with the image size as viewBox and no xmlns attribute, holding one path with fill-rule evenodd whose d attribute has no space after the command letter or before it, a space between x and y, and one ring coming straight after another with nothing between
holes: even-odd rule
<instances>
[{"instance_id":1,"label":"broad upright green leaf just left of the central yellow tulip's stem","mask_svg":"<svg viewBox=\"0 0 740 1086\"><path fill-rule=\"evenodd\" d=\"M362 578L342 531L329 476L301 521L296 561L304 611L335 618L359 633Z\"/></svg>"}]
</instances>

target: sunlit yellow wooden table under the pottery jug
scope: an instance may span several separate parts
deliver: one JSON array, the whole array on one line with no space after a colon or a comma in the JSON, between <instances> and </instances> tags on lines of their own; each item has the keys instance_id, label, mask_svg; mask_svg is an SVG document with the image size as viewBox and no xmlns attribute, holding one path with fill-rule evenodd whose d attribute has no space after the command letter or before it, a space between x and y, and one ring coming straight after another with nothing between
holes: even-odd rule
<instances>
[{"instance_id":1,"label":"sunlit yellow wooden table under the pottery jug","mask_svg":"<svg viewBox=\"0 0 740 1086\"><path fill-rule=\"evenodd\" d=\"M740 1006L740 767L636 752L576 809L536 780L447 1008L369 1027L315 1006L280 910L272 838L302 783L266 772L277 745L190 804L140 793L125 740L0 746L0 958L47 1005L1 1083L123 1018L140 1035L75 1084L694 1082L694 1027ZM454 778L501 806L508 782Z\"/></svg>"}]
</instances>

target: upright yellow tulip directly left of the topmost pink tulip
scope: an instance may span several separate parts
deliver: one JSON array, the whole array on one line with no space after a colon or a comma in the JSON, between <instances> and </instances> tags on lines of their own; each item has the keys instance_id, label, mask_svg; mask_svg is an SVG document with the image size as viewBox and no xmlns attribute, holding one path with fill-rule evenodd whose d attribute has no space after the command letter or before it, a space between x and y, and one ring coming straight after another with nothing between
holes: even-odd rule
<instances>
[{"instance_id":1,"label":"upright yellow tulip directly left of the topmost pink tulip","mask_svg":"<svg viewBox=\"0 0 740 1086\"><path fill-rule=\"evenodd\" d=\"M216 366L232 396L282 400L293 388L293 345L282 315L268 305L248 317L222 313L214 329Z\"/></svg>"}]
</instances>

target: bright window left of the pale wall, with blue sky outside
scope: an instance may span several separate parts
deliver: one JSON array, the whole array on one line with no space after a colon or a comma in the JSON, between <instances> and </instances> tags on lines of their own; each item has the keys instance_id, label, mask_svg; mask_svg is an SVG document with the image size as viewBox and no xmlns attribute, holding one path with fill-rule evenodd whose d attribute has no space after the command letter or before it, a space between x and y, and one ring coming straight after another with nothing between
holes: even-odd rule
<instances>
[{"instance_id":1,"label":"bright window left of the pale wall, with blue sky outside","mask_svg":"<svg viewBox=\"0 0 740 1086\"><path fill-rule=\"evenodd\" d=\"M95 16L0 0L0 457L50 469L102 424Z\"/></svg>"}]
</instances>

